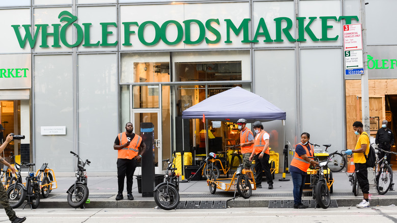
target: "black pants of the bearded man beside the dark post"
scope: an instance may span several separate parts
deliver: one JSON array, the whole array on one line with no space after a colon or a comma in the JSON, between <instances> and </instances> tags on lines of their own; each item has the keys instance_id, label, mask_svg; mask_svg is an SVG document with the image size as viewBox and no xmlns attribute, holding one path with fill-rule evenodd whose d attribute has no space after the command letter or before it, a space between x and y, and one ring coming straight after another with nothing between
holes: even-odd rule
<instances>
[{"instance_id":1,"label":"black pants of the bearded man beside the dark post","mask_svg":"<svg viewBox=\"0 0 397 223\"><path fill-rule=\"evenodd\" d=\"M127 193L132 192L132 179L136 169L135 159L117 159L117 179L119 183L119 194L124 190L124 177L127 177Z\"/></svg>"}]
</instances>

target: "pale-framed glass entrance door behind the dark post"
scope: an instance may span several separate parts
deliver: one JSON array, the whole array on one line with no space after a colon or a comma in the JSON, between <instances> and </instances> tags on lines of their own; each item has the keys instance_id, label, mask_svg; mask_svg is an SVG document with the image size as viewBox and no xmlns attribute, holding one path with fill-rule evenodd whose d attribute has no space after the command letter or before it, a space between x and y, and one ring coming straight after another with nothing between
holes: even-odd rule
<instances>
[{"instance_id":1,"label":"pale-framed glass entrance door behind the dark post","mask_svg":"<svg viewBox=\"0 0 397 223\"><path fill-rule=\"evenodd\" d=\"M154 144L153 148L146 148L147 150L152 149L154 154L155 162L155 173L161 173L161 159L162 159L162 146L161 146L161 113L158 108L145 108L145 109L132 109L132 124L134 125L134 133L140 135L140 123L151 122L154 126ZM159 164L160 163L160 164ZM138 170L139 168L139 170ZM135 171L135 175L141 173L140 165ZM139 174L138 174L139 173Z\"/></svg>"}]
</instances>

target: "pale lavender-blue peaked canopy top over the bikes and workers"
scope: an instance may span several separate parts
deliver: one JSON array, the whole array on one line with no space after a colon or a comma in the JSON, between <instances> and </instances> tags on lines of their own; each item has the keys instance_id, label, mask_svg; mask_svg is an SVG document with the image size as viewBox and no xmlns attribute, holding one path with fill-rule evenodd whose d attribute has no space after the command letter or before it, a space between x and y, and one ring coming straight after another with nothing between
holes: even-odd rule
<instances>
[{"instance_id":1,"label":"pale lavender-blue peaked canopy top over the bikes and workers","mask_svg":"<svg viewBox=\"0 0 397 223\"><path fill-rule=\"evenodd\" d=\"M259 95L240 87L213 95L182 112L184 119L206 119L236 122L286 120L286 113Z\"/></svg>"}]
</instances>

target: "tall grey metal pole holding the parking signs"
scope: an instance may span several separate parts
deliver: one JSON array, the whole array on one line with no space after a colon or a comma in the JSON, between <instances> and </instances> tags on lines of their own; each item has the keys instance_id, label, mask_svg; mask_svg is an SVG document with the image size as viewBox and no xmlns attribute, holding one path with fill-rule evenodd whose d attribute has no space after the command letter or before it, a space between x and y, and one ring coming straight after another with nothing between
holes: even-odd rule
<instances>
[{"instance_id":1,"label":"tall grey metal pole holding the parking signs","mask_svg":"<svg viewBox=\"0 0 397 223\"><path fill-rule=\"evenodd\" d=\"M361 75L361 110L362 124L364 131L370 132L370 96L368 93L368 66L367 66L367 50L366 50L366 22L365 22L365 0L360 0L361 13L361 29L362 29L362 52L364 74Z\"/></svg>"}]
</instances>

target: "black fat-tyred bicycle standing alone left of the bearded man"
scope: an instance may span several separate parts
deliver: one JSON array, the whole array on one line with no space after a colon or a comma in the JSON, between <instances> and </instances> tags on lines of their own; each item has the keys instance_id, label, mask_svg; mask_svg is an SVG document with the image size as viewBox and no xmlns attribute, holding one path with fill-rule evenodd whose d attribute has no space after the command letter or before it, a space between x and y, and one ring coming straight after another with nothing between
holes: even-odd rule
<instances>
[{"instance_id":1,"label":"black fat-tyred bicycle standing alone left of the bearded man","mask_svg":"<svg viewBox=\"0 0 397 223\"><path fill-rule=\"evenodd\" d=\"M77 171L76 171L76 181L72 186L69 187L68 193L68 204L72 208L84 208L84 204L86 203L89 190L87 187L87 175L85 173L86 169L84 166L87 164L90 165L90 161L86 159L83 161L76 153L70 151L75 157L77 157Z\"/></svg>"}]
</instances>

